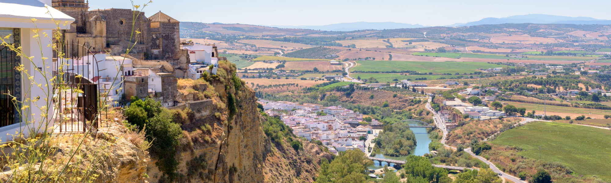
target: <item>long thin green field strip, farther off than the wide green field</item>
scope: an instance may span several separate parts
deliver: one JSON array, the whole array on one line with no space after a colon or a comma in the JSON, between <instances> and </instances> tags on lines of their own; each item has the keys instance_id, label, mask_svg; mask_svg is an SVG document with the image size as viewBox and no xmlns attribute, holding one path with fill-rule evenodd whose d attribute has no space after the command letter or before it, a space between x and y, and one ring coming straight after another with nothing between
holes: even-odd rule
<instances>
[{"instance_id":1,"label":"long thin green field strip, farther off than the wide green field","mask_svg":"<svg viewBox=\"0 0 611 183\"><path fill-rule=\"evenodd\" d=\"M556 59L556 58L514 58L514 57L505 57L500 54L459 54L459 53L451 53L451 52L414 52L412 53L414 56L429 56L429 57L445 57L452 59L459 58L477 58L477 59L510 59L510 60L590 60L579 57L567 57L567 59Z\"/></svg>"}]
</instances>

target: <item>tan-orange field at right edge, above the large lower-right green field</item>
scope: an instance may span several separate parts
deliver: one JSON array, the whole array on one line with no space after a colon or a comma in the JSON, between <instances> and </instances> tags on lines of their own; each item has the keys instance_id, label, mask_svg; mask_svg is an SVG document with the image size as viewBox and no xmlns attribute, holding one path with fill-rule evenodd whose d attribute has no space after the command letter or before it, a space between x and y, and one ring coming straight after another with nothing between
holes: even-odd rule
<instances>
[{"instance_id":1,"label":"tan-orange field at right edge, above the large lower-right green field","mask_svg":"<svg viewBox=\"0 0 611 183\"><path fill-rule=\"evenodd\" d=\"M565 106L543 106L543 104L530 104L524 102L511 102L511 101L503 101L507 102L516 107L525 107L527 111L535 110L536 114L543 114L544 111L547 111L546 114L549 115L558 115L560 117L569 116L572 119L575 117L579 117L580 115L585 115L585 117L591 117L596 119L601 119L604 115L609 114L609 110L600 110L600 109L586 109L579 107L565 107Z\"/></svg>"}]
</instances>

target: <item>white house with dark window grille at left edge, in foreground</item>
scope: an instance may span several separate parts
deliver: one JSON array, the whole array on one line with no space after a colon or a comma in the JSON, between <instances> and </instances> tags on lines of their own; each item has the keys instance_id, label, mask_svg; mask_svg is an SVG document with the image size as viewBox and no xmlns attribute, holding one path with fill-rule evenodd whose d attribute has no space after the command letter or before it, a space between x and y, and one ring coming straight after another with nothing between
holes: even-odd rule
<instances>
[{"instance_id":1,"label":"white house with dark window grille at left edge, in foreground","mask_svg":"<svg viewBox=\"0 0 611 183\"><path fill-rule=\"evenodd\" d=\"M32 19L35 19L35 21L32 22ZM59 21L59 25L53 19ZM15 134L15 132L29 135L29 128L31 127L46 128L53 126L53 120L42 121L40 118L41 115L48 115L48 119L52 119L53 114L43 113L43 111L38 109L38 107L49 106L51 111L54 110L53 105L47 103L53 101L53 92L49 92L52 90L52 86L45 84L42 87L32 86L29 84L30 81L25 77L25 74L27 72L27 74L33 77L32 80L37 82L48 80L45 79L39 70L42 70L43 73L49 73L46 77L52 77L51 73L53 72L50 66L52 65L53 49L47 46L52 43L50 38L44 36L46 34L51 37L53 29L56 29L57 26L59 26L59 29L69 29L73 21L75 21L74 18L53 9L51 7L51 0L0 1L0 37L4 39L4 37L10 34L11 36L4 39L4 41L9 44L15 44L16 47L21 46L21 51L26 56L34 57L30 61L24 57L16 56L16 53L9 48L0 46L0 63L2 65L24 66L24 71L22 72L12 69L7 70L5 74L2 74L2 79L0 79L0 84L5 86L0 89L0 105L2 105L0 112L4 115L2 120L0 120L0 140L4 142L10 140L12 136L8 134ZM34 32L35 30L38 33ZM48 59L43 60L42 57ZM49 68L46 68L46 66L49 66ZM12 67L9 66L9 68ZM12 97L5 95L9 93L15 96L18 101L26 101L26 99L38 97L40 99L24 102L24 105L30 107L21 110L23 115L19 115L18 109L20 107L13 106L11 102ZM26 125L26 121L35 122Z\"/></svg>"}]
</instances>

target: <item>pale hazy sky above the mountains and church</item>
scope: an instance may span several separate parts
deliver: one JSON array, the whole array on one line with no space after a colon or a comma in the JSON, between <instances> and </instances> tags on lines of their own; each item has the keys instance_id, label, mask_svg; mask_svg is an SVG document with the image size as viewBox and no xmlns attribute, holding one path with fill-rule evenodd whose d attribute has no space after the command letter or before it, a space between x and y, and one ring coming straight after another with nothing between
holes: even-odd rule
<instances>
[{"instance_id":1,"label":"pale hazy sky above the mountains and church","mask_svg":"<svg viewBox=\"0 0 611 183\"><path fill-rule=\"evenodd\" d=\"M144 4L144 0L133 0ZM130 9L130 0L90 0L90 9ZM588 16L611 20L609 0L153 0L147 16L161 10L178 21L241 23L257 25L319 26L357 21L444 26L482 18L547 14Z\"/></svg>"}]
</instances>

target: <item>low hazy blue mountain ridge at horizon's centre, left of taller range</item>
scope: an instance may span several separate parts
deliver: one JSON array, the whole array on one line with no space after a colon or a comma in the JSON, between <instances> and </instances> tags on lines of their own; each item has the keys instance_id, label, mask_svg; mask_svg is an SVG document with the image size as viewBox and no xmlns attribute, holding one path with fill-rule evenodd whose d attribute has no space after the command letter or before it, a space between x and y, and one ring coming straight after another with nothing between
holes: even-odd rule
<instances>
[{"instance_id":1,"label":"low hazy blue mountain ridge at horizon's centre, left of taller range","mask_svg":"<svg viewBox=\"0 0 611 183\"><path fill-rule=\"evenodd\" d=\"M365 30L365 29L382 30L382 29L422 28L422 27L429 27L429 26L422 26L420 24L395 23L395 22L359 21L355 23L338 23L338 24L329 24L329 25L324 25L324 26L268 26L268 27L327 30L327 31L352 31L352 30Z\"/></svg>"}]
</instances>

